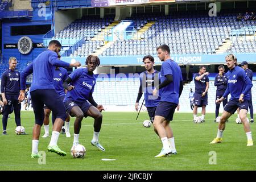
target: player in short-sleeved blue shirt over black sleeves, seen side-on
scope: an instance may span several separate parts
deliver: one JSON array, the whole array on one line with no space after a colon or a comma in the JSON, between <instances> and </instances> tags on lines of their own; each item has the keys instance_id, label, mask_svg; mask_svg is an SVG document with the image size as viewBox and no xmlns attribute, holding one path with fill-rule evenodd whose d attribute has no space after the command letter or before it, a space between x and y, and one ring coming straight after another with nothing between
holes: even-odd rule
<instances>
[{"instance_id":1,"label":"player in short-sleeved blue shirt over black sleeves, seen side-on","mask_svg":"<svg viewBox=\"0 0 256 182\"><path fill-rule=\"evenodd\" d=\"M179 65L170 57L170 48L163 44L156 48L158 57L163 61L161 67L161 84L153 90L153 95L161 96L156 107L154 127L162 141L163 149L156 155L156 158L177 154L174 142L174 135L170 127L170 121L174 116L174 111L179 104L179 97L183 90L183 80Z\"/></svg>"}]
</instances>

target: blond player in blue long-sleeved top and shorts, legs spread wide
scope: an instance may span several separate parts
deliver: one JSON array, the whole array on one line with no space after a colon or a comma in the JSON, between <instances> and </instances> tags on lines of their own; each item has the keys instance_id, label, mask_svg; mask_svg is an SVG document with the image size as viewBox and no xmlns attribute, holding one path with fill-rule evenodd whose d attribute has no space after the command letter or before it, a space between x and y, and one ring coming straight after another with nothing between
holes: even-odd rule
<instances>
[{"instance_id":1,"label":"blond player in blue long-sleeved top and shorts, legs spread wide","mask_svg":"<svg viewBox=\"0 0 256 182\"><path fill-rule=\"evenodd\" d=\"M228 88L221 98L216 100L217 103L221 103L224 98L231 94L228 104L224 107L224 111L221 115L220 123L218 123L217 137L213 139L212 143L221 143L222 135L225 130L225 122L228 118L234 114L237 108L240 108L239 116L243 123L243 129L247 136L247 146L253 146L253 139L251 137L250 124L246 121L246 114L248 112L248 101L250 99L249 91L253 86L250 78L246 75L245 71L237 66L237 58L233 54L226 56L226 63L229 71L226 73L228 78Z\"/></svg>"}]
</instances>

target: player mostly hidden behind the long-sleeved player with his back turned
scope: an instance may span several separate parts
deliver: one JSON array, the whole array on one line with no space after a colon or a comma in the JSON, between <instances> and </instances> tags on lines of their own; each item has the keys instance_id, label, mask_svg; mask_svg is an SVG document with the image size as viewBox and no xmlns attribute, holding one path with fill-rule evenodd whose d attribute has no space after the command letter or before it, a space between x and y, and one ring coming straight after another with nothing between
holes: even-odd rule
<instances>
[{"instance_id":1,"label":"player mostly hidden behind the long-sleeved player with his back turned","mask_svg":"<svg viewBox=\"0 0 256 182\"><path fill-rule=\"evenodd\" d=\"M58 59L60 59L60 54L58 54ZM68 78L68 72L67 69L56 67L53 75L53 81L54 81L54 88L56 92L61 97L61 100L64 100L65 93L67 90L63 88L63 81ZM44 135L42 138L49 137L49 115L51 114L51 109L49 109L47 106L44 106ZM52 126L55 122L56 115L52 113ZM71 137L69 133L69 121L70 117L67 113L67 118L65 119L65 125L63 124L63 127L61 129L61 134L66 134L66 137ZM65 126L65 127L64 127Z\"/></svg>"}]
</instances>

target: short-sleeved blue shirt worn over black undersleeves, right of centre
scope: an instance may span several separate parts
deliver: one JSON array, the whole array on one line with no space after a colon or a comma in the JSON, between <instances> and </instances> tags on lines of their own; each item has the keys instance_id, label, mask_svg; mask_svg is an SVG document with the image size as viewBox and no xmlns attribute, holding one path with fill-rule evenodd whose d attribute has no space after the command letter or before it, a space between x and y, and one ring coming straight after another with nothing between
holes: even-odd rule
<instances>
[{"instance_id":1,"label":"short-sleeved blue shirt worn over black undersleeves, right of centre","mask_svg":"<svg viewBox=\"0 0 256 182\"><path fill-rule=\"evenodd\" d=\"M161 82L166 80L166 75L172 75L173 81L162 89L159 89L161 101L179 104L180 81L183 80L181 69L174 60L168 59L163 62L161 67Z\"/></svg>"}]
</instances>

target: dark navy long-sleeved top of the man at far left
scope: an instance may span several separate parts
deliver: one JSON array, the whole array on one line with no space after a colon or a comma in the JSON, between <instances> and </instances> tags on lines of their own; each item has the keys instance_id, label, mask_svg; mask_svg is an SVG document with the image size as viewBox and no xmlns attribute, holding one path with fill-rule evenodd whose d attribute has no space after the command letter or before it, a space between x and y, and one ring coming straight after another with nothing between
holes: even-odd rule
<instances>
[{"instance_id":1,"label":"dark navy long-sleeved top of the man at far left","mask_svg":"<svg viewBox=\"0 0 256 182\"><path fill-rule=\"evenodd\" d=\"M20 73L7 69L3 72L1 78L1 92L7 95L19 95L20 90Z\"/></svg>"}]
</instances>

